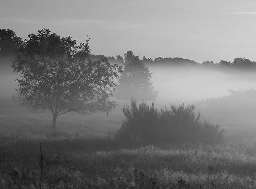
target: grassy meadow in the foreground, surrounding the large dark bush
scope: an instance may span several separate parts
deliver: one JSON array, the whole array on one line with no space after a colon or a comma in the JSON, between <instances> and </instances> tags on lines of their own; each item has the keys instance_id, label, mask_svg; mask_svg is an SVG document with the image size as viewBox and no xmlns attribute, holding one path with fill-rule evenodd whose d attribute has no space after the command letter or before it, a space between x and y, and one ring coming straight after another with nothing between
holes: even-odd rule
<instances>
[{"instance_id":1,"label":"grassy meadow in the foreground, surrounding the large dark bush","mask_svg":"<svg viewBox=\"0 0 256 189\"><path fill-rule=\"evenodd\" d=\"M131 147L114 140L120 108L63 115L53 129L51 114L1 103L0 188L256 188L253 124L226 123L218 145Z\"/></svg>"}]
</instances>

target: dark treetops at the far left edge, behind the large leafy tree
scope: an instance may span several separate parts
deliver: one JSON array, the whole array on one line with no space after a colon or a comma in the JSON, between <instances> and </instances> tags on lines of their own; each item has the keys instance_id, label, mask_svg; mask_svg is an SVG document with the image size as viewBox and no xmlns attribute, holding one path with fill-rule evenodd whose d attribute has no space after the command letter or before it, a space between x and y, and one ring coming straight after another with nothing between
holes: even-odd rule
<instances>
[{"instance_id":1,"label":"dark treetops at the far left edge, behind the large leafy tree","mask_svg":"<svg viewBox=\"0 0 256 189\"><path fill-rule=\"evenodd\" d=\"M13 56L14 51L22 45L22 39L11 29L0 29L0 57Z\"/></svg>"}]
</instances>

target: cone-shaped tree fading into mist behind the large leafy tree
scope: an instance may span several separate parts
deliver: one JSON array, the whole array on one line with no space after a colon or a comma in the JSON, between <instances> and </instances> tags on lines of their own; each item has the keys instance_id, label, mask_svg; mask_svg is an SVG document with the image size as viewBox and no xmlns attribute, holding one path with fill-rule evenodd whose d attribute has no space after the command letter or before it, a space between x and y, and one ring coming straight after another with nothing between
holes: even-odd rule
<instances>
[{"instance_id":1,"label":"cone-shaped tree fading into mist behind the large leafy tree","mask_svg":"<svg viewBox=\"0 0 256 189\"><path fill-rule=\"evenodd\" d=\"M155 100L157 92L150 81L152 72L132 51L127 51L124 58L124 71L118 80L115 97L121 100Z\"/></svg>"}]
</instances>

